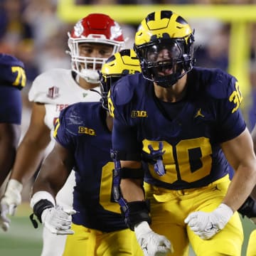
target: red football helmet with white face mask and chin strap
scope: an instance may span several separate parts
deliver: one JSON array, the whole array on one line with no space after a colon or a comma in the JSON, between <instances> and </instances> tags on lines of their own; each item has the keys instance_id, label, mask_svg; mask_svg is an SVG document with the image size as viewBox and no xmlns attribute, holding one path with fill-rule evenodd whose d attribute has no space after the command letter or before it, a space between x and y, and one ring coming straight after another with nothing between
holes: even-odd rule
<instances>
[{"instance_id":1,"label":"red football helmet with white face mask and chin strap","mask_svg":"<svg viewBox=\"0 0 256 256\"><path fill-rule=\"evenodd\" d=\"M124 46L124 37L119 24L105 14L90 14L80 19L73 31L68 33L68 37L72 70L90 83L99 82L97 70L107 58L80 56L78 45L80 43L104 43L113 46L112 54L117 53Z\"/></svg>"}]
</instances>

